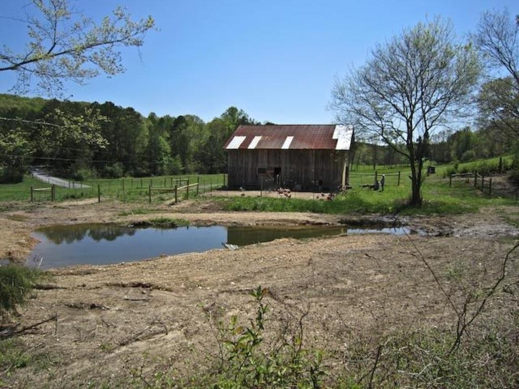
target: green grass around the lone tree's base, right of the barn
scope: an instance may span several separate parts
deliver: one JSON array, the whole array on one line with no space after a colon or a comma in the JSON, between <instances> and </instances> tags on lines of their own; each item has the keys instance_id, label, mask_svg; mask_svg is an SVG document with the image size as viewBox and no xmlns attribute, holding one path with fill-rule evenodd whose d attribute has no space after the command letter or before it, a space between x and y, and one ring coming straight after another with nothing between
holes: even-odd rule
<instances>
[{"instance_id":1,"label":"green grass around the lone tree's base, right of the barn","mask_svg":"<svg viewBox=\"0 0 519 389\"><path fill-rule=\"evenodd\" d=\"M422 195L424 205L420 208L407 206L411 196L409 170L401 170L400 186L397 176L386 176L384 192L362 189L360 185L371 184L374 176L352 174L350 183L353 189L346 196L337 196L333 201L278 198L217 198L215 199L228 211L266 211L266 212L315 212L326 214L378 213L378 214L461 214L477 212L482 206L513 205L514 199L484 195L480 190L464 182L453 183L449 187L448 178L443 178L442 170L450 165L439 166L436 174L427 177ZM394 173L397 168L387 169ZM354 173L354 172L353 172ZM381 173L379 173L380 176Z\"/></svg>"}]
</instances>

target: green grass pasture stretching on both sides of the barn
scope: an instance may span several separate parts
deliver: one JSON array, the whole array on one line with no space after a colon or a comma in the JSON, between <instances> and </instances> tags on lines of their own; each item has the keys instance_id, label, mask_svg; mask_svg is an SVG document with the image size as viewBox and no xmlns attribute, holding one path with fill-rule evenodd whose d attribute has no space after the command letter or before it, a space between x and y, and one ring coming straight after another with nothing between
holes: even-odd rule
<instances>
[{"instance_id":1,"label":"green grass pasture stretching on both sides of the barn","mask_svg":"<svg viewBox=\"0 0 519 389\"><path fill-rule=\"evenodd\" d=\"M510 164L511 157L503 157L504 163ZM460 163L458 171L477 171L479 169L497 166L499 158L488 160L476 160ZM356 166L357 168L357 166ZM410 208L406 200L411 193L411 181L408 178L410 170L408 166L379 166L376 169L377 177L386 174L386 188L384 192L373 191L361 187L363 184L373 184L375 171L373 166L358 166L358 170L350 172L350 184L353 189L346 196L337 196L334 201L315 201L303 199L277 199L277 198L215 198L225 210L229 211L279 211L279 212L319 212L319 213L383 213L383 214L459 214L476 212L481 206L498 206L516 204L513 197L502 198L488 196L473 185L468 185L462 180L456 180L449 187L448 173L454 169L453 164L437 165L436 174L427 177L423 185L425 205L420 209ZM398 174L400 172L400 185ZM96 198L98 185L101 189L102 199L116 199L119 201L145 203L148 202L148 188L171 188L179 185L175 179L187 179L189 183L199 182L200 193L211 188L224 185L223 174L213 175L181 175L181 176L157 176L147 178L124 177L118 179L92 179L83 184L90 188L69 189L56 188L56 200L73 200ZM185 185L185 181L182 183ZM22 183L12 185L0 185L0 201L29 201L30 188L49 187L48 184L26 176ZM195 188L191 188L191 193ZM179 199L184 198L185 190L179 194ZM35 192L35 201L49 201L50 192ZM160 203L173 199L172 192L153 192L152 202Z\"/></svg>"}]
</instances>

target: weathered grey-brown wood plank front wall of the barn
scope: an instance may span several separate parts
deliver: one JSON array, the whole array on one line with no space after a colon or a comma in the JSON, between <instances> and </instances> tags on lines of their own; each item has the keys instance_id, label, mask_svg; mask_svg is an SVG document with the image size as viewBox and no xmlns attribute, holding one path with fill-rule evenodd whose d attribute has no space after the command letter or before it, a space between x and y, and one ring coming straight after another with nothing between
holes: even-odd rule
<instances>
[{"instance_id":1,"label":"weathered grey-brown wood plank front wall of the barn","mask_svg":"<svg viewBox=\"0 0 519 389\"><path fill-rule=\"evenodd\" d=\"M319 186L323 190L335 190L342 184L347 151L335 150L227 150L228 185L230 188L258 188L265 169L265 180L275 178L280 168L282 186L301 186L310 190ZM347 163L347 162L346 162ZM314 184L315 183L315 184Z\"/></svg>"}]
</instances>

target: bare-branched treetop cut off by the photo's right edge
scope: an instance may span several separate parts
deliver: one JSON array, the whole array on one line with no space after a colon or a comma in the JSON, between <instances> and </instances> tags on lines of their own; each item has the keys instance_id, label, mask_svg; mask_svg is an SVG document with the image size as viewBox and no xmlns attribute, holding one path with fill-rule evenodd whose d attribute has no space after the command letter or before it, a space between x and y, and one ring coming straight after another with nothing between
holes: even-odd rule
<instances>
[{"instance_id":1,"label":"bare-branched treetop cut off by the photo's right edge","mask_svg":"<svg viewBox=\"0 0 519 389\"><path fill-rule=\"evenodd\" d=\"M489 74L508 74L490 77L483 86L480 121L519 139L519 15L513 18L506 9L484 12L472 39Z\"/></svg>"}]
</instances>

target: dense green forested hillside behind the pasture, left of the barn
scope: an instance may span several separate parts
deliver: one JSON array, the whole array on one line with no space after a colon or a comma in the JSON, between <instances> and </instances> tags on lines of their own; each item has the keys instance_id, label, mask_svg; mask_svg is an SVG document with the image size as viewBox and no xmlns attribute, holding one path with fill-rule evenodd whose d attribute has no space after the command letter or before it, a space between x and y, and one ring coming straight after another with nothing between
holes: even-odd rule
<instances>
[{"instance_id":1,"label":"dense green forested hillside behind the pasture, left of the barn","mask_svg":"<svg viewBox=\"0 0 519 389\"><path fill-rule=\"evenodd\" d=\"M195 115L142 116L112 102L86 103L0 94L1 182L31 164L76 179L224 171L227 137L256 123L229 107L204 122Z\"/></svg>"}]
</instances>

